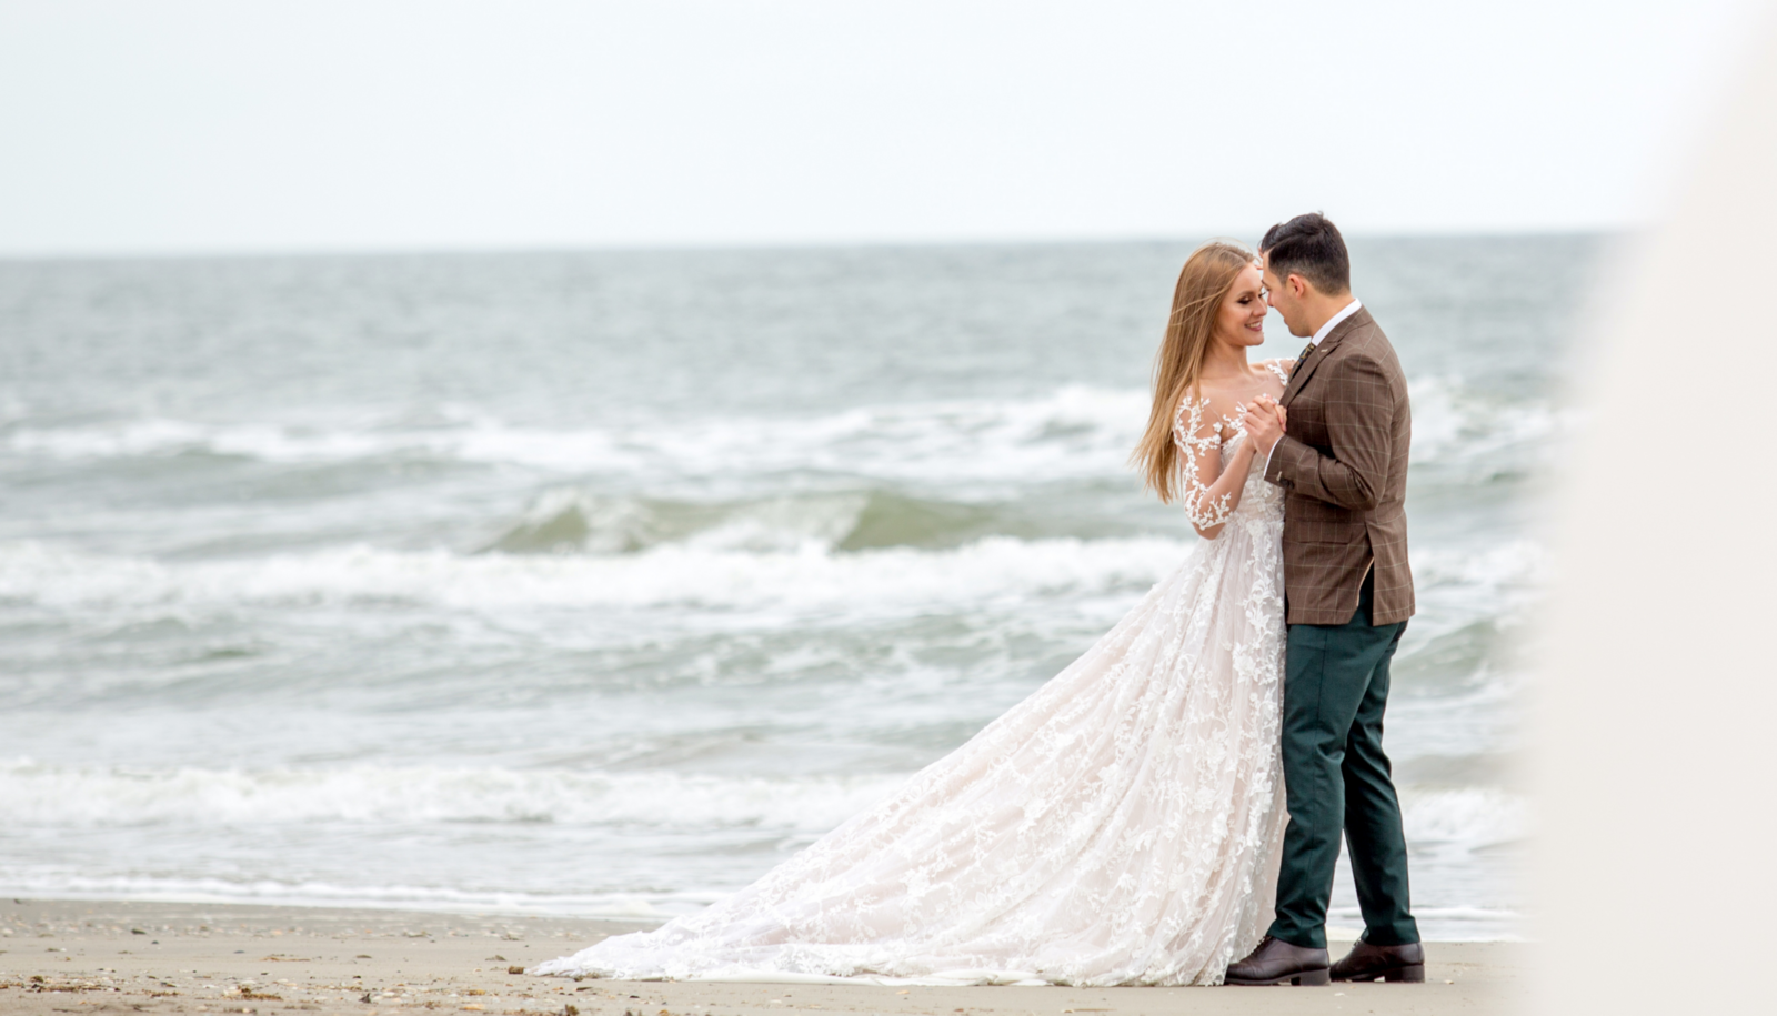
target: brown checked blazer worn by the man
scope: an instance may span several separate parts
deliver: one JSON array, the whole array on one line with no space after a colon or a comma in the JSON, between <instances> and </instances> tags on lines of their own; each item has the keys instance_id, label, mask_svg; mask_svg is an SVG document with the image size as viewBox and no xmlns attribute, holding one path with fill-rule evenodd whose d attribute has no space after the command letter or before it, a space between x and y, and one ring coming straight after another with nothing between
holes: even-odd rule
<instances>
[{"instance_id":1,"label":"brown checked blazer worn by the man","mask_svg":"<svg viewBox=\"0 0 1777 1016\"><path fill-rule=\"evenodd\" d=\"M1340 321L1283 389L1288 433L1265 465L1283 497L1288 623L1342 625L1375 567L1372 623L1413 616L1407 444L1413 414L1395 346L1368 309Z\"/></svg>"}]
</instances>

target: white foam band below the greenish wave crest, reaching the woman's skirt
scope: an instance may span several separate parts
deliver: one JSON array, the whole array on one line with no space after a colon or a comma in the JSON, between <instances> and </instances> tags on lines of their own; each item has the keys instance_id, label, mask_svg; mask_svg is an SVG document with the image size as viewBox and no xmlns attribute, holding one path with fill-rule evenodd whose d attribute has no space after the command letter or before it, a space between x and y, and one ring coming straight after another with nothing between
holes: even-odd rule
<instances>
[{"instance_id":1,"label":"white foam band below the greenish wave crest, reaching the woman's skirt","mask_svg":"<svg viewBox=\"0 0 1777 1016\"><path fill-rule=\"evenodd\" d=\"M748 552L670 544L627 556L464 556L343 547L169 563L44 544L0 545L0 599L80 606L430 604L467 611L663 607L897 611L1157 581L1191 544L1015 540L947 551Z\"/></svg>"}]
</instances>

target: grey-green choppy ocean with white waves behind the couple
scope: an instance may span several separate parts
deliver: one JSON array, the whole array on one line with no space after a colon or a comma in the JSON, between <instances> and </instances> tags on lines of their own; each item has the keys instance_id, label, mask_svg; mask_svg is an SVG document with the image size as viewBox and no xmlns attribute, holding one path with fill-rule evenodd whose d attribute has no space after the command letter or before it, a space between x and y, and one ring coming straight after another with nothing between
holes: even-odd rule
<instances>
[{"instance_id":1,"label":"grey-green choppy ocean with white waves behind the couple","mask_svg":"<svg viewBox=\"0 0 1777 1016\"><path fill-rule=\"evenodd\" d=\"M1605 247L1352 242L1414 409L1386 744L1429 938L1525 931ZM657 920L752 881L1189 552L1128 467L1189 250L0 261L0 893Z\"/></svg>"}]
</instances>

